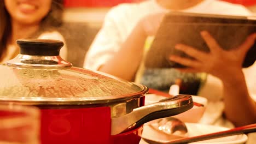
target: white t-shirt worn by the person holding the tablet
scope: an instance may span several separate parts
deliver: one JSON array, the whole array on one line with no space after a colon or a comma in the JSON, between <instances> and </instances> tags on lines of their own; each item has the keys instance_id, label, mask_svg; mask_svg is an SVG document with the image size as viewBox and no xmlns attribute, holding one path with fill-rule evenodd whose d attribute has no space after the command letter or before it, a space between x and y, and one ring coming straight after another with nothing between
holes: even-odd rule
<instances>
[{"instance_id":1,"label":"white t-shirt worn by the person holding the tablet","mask_svg":"<svg viewBox=\"0 0 256 144\"><path fill-rule=\"evenodd\" d=\"M155 0L148 0L134 4L120 4L112 8L104 19L103 26L96 35L84 62L84 68L97 70L106 63L121 47L121 44L131 33L137 22L144 16L167 11L161 8ZM182 10L188 13L206 13L219 15L251 15L242 5L231 4L218 0L205 0L195 7ZM255 92L256 63L245 70L249 92ZM253 88L254 87L254 88ZM210 90L211 89L211 90ZM214 92L212 92L214 89ZM208 106L201 123L229 126L230 123L221 121L224 104L222 98L222 83L216 77L207 76L205 86L200 89L200 95L208 99ZM254 94L253 94L254 93ZM218 96L216 96L218 95ZM255 98L256 99L256 98ZM231 125L232 126L232 125Z\"/></svg>"}]
</instances>

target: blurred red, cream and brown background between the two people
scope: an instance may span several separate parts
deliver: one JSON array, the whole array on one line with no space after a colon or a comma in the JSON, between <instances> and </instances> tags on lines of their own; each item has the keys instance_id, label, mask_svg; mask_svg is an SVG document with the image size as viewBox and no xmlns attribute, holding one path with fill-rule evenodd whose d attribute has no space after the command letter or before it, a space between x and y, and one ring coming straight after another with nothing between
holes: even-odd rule
<instances>
[{"instance_id":1,"label":"blurred red, cream and brown background between the two people","mask_svg":"<svg viewBox=\"0 0 256 144\"><path fill-rule=\"evenodd\" d=\"M60 29L69 51L67 60L76 67L83 67L85 53L101 28L107 11L121 3L141 1L143 0L64 0L63 20L65 23ZM223 1L245 5L256 15L256 0Z\"/></svg>"}]
</instances>

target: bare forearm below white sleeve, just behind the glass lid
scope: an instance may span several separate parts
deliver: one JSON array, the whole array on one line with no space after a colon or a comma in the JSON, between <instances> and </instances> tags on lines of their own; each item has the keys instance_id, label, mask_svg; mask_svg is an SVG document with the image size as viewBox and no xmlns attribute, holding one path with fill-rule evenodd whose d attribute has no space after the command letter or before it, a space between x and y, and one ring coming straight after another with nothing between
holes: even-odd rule
<instances>
[{"instance_id":1,"label":"bare forearm below white sleeve, just behind the glass lid","mask_svg":"<svg viewBox=\"0 0 256 144\"><path fill-rule=\"evenodd\" d=\"M121 49L106 64L100 67L100 71L132 81L143 57L143 47L147 35L139 26L135 27Z\"/></svg>"}]
</instances>

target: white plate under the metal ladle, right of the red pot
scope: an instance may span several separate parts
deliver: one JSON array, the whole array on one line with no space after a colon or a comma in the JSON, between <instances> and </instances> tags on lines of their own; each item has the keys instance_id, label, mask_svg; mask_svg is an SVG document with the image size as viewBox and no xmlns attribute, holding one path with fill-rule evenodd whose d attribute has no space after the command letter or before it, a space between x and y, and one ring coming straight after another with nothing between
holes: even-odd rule
<instances>
[{"instance_id":1,"label":"white plate under the metal ladle, right of the red pot","mask_svg":"<svg viewBox=\"0 0 256 144\"><path fill-rule=\"evenodd\" d=\"M185 123L188 128L188 136L197 136L204 135L209 133L215 133L217 131L228 130L228 128L217 127L214 125L206 125L206 124L198 124L198 123ZM142 137L154 140L158 142L168 142L170 140L174 140L175 138L171 138L170 135L163 134L159 131L156 131L154 128L150 127L148 124L144 124L144 129L142 133ZM206 141L193 142L195 143L207 143L207 144L238 144L245 143L247 141L246 135L234 135L227 137L220 137L218 139L211 139ZM139 144L147 144L147 142L141 140Z\"/></svg>"}]
</instances>

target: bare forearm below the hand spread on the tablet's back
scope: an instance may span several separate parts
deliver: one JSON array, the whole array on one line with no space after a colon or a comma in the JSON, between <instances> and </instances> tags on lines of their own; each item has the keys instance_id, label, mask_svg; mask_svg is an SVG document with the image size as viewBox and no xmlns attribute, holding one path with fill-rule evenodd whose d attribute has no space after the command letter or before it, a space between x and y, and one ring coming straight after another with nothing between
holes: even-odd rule
<instances>
[{"instance_id":1,"label":"bare forearm below the hand spread on the tablet's back","mask_svg":"<svg viewBox=\"0 0 256 144\"><path fill-rule=\"evenodd\" d=\"M236 127L256 123L256 104L249 96L245 77L239 71L231 79L223 80L225 115ZM232 77L230 75L230 77Z\"/></svg>"}]
</instances>

